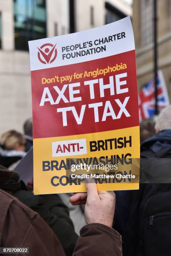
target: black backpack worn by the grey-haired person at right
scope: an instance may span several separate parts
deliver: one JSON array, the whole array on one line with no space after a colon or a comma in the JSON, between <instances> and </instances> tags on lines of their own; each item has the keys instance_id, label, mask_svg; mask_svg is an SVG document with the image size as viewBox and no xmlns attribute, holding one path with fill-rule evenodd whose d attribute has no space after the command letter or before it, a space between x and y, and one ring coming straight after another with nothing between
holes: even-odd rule
<instances>
[{"instance_id":1,"label":"black backpack worn by the grey-haired person at right","mask_svg":"<svg viewBox=\"0 0 171 256\"><path fill-rule=\"evenodd\" d=\"M171 148L156 154L145 151L141 157L148 158L147 166L151 165L151 158L156 158L156 162L159 158L167 158L171 173ZM163 161L159 163L161 167L158 169L163 172ZM171 256L171 183L141 183L139 190L131 192L129 219L123 234L123 255Z\"/></svg>"}]
</instances>

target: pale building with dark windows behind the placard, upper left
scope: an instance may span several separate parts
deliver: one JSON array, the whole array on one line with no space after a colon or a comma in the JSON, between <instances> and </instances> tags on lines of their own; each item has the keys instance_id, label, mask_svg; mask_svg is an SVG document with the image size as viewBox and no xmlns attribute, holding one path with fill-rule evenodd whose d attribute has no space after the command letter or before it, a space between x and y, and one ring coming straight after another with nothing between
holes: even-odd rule
<instances>
[{"instance_id":1,"label":"pale building with dark windows behind the placard, upper left","mask_svg":"<svg viewBox=\"0 0 171 256\"><path fill-rule=\"evenodd\" d=\"M125 1L0 0L0 135L22 132L32 115L28 41L124 18L132 14Z\"/></svg>"}]
</instances>

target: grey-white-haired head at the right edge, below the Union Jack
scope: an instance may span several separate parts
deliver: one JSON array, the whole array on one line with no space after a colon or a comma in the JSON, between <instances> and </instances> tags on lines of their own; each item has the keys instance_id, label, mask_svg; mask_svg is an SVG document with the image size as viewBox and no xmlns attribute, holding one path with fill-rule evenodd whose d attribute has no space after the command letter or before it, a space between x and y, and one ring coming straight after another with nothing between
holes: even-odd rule
<instances>
[{"instance_id":1,"label":"grey-white-haired head at the right edge, below the Union Jack","mask_svg":"<svg viewBox=\"0 0 171 256\"><path fill-rule=\"evenodd\" d=\"M161 111L156 121L155 129L156 133L171 129L171 105Z\"/></svg>"}]
</instances>

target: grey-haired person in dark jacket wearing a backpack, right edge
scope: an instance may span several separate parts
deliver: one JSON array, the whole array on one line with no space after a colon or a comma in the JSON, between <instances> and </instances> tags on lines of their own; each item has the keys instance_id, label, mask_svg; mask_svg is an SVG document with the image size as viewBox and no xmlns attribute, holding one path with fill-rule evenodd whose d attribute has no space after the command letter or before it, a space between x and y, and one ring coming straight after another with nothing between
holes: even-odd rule
<instances>
[{"instance_id":1,"label":"grey-haired person in dark jacket wearing a backpack, right edge","mask_svg":"<svg viewBox=\"0 0 171 256\"><path fill-rule=\"evenodd\" d=\"M125 192L122 230L125 208L116 202L113 227L123 238L123 256L171 255L171 105L158 115L155 130L140 146L140 187Z\"/></svg>"}]
</instances>

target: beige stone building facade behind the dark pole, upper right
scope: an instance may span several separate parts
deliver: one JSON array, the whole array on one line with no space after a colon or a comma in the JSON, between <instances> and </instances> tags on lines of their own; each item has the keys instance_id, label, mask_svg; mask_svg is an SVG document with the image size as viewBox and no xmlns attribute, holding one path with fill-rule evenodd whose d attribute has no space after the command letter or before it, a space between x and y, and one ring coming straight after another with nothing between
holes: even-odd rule
<instances>
[{"instance_id":1,"label":"beige stone building facade behind the dark pole, upper right","mask_svg":"<svg viewBox=\"0 0 171 256\"><path fill-rule=\"evenodd\" d=\"M158 0L158 68L162 70L171 102L171 0ZM153 0L133 0L138 88L153 76Z\"/></svg>"}]
</instances>

